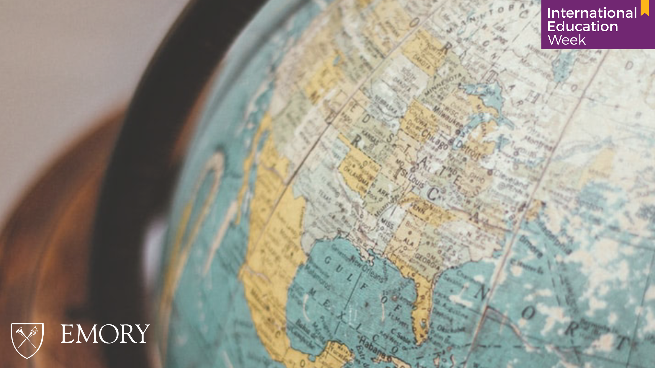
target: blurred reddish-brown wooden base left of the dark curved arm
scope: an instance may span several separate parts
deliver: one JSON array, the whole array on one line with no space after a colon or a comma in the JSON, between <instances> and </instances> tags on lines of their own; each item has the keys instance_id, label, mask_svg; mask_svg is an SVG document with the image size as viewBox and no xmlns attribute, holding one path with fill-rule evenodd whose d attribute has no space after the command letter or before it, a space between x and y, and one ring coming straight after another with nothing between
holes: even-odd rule
<instances>
[{"instance_id":1,"label":"blurred reddish-brown wooden base left of the dark curved arm","mask_svg":"<svg viewBox=\"0 0 655 368\"><path fill-rule=\"evenodd\" d=\"M0 234L3 367L106 367L102 344L62 344L60 325L79 324L90 331L98 323L88 301L90 237L121 122L122 113L108 117L58 158L24 195ZM43 345L29 359L14 350L9 333L11 323L21 322L44 323Z\"/></svg>"}]
</instances>

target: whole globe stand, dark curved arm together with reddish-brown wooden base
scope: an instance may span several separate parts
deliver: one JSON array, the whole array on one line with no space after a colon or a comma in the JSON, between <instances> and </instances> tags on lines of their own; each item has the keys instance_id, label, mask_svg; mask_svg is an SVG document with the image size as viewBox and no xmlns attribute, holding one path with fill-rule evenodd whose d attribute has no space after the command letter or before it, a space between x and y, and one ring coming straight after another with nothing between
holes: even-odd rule
<instances>
[{"instance_id":1,"label":"whole globe stand, dark curved arm together with reddish-brown wooden base","mask_svg":"<svg viewBox=\"0 0 655 368\"><path fill-rule=\"evenodd\" d=\"M203 92L263 3L191 0L126 112L107 118L54 162L18 204L0 235L0 327L43 322L45 335L41 350L26 360L14 351L9 331L0 331L0 366L151 363L145 344L64 348L60 325L89 331L96 323L150 323L141 283L145 229L166 211ZM147 331L151 343L154 330Z\"/></svg>"}]
</instances>

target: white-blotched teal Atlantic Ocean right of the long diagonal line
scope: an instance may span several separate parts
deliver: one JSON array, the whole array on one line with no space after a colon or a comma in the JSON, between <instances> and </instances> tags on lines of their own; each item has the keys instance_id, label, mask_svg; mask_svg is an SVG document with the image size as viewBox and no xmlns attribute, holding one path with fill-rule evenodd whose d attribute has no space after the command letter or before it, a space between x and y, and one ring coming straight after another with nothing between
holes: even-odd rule
<instances>
[{"instance_id":1,"label":"white-blotched teal Atlantic Ocean right of the long diagonal line","mask_svg":"<svg viewBox=\"0 0 655 368\"><path fill-rule=\"evenodd\" d=\"M643 249L652 242L635 243L629 232L617 230L614 214L627 204L617 187L591 181L575 202L558 230L543 210L521 225L506 277L489 302L493 313L479 331L479 344L488 348L476 350L469 364L650 366L644 348L630 348L640 320L626 310L639 308L648 288L652 253ZM574 225L573 217L582 221ZM610 249L613 257L604 253ZM601 336L611 337L610 348L593 349Z\"/></svg>"}]
</instances>

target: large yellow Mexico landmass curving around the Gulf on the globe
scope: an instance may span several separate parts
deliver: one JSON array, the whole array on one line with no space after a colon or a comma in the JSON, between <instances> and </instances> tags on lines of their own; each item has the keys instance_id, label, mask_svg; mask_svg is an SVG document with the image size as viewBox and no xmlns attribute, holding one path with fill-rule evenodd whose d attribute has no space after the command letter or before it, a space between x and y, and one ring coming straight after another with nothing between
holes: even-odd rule
<instances>
[{"instance_id":1,"label":"large yellow Mexico landmass curving around the Gulf on the globe","mask_svg":"<svg viewBox=\"0 0 655 368\"><path fill-rule=\"evenodd\" d=\"M288 160L275 152L271 138L264 144L267 155L262 154L257 167L248 250L239 272L253 325L271 358L286 367L341 367L352 355L337 342L327 344L314 362L307 354L290 348L286 334L287 293L297 268L307 260L300 245L305 199L293 198L284 179L271 170L286 170Z\"/></svg>"}]
</instances>

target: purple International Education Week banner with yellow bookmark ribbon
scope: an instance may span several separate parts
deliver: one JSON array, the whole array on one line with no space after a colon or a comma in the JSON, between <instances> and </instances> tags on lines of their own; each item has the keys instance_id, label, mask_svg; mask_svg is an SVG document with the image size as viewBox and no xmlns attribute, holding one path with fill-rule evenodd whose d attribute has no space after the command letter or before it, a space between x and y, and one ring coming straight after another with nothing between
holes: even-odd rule
<instances>
[{"instance_id":1,"label":"purple International Education Week banner with yellow bookmark ribbon","mask_svg":"<svg viewBox=\"0 0 655 368\"><path fill-rule=\"evenodd\" d=\"M648 0L542 0L541 48L655 48L647 14Z\"/></svg>"}]
</instances>

